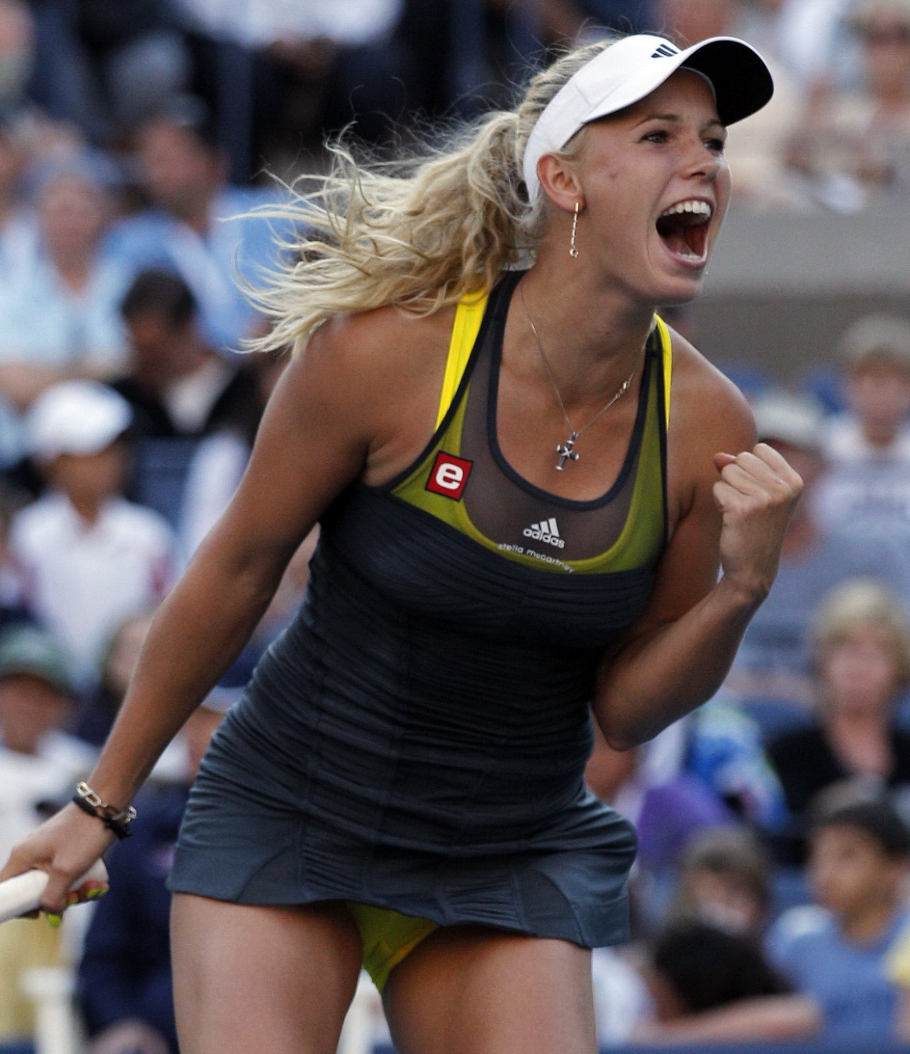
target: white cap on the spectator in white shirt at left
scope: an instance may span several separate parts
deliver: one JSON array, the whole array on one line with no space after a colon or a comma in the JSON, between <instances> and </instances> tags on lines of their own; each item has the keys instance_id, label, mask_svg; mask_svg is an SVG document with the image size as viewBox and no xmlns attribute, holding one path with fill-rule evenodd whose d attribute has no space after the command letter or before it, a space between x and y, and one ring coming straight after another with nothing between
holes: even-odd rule
<instances>
[{"instance_id":1,"label":"white cap on the spectator in white shirt at left","mask_svg":"<svg viewBox=\"0 0 910 1054\"><path fill-rule=\"evenodd\" d=\"M46 464L59 454L95 454L133 419L130 404L96 380L64 380L43 391L25 417L28 452Z\"/></svg>"}]
</instances>

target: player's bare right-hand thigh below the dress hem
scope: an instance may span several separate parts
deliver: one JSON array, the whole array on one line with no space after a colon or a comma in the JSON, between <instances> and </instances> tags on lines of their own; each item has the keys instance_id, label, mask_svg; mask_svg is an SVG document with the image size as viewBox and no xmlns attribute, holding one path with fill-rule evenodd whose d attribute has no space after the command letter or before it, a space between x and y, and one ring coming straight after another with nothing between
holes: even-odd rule
<instances>
[{"instance_id":1,"label":"player's bare right-hand thigh below the dress hem","mask_svg":"<svg viewBox=\"0 0 910 1054\"><path fill-rule=\"evenodd\" d=\"M595 1054L590 952L475 926L438 930L394 968L399 1054Z\"/></svg>"}]
</instances>

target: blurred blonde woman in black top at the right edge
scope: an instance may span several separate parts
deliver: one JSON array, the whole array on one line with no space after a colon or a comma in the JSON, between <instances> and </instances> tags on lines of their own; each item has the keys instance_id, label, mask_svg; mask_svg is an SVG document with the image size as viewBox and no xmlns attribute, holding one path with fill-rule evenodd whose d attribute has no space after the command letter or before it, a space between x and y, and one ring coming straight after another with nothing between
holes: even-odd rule
<instances>
[{"instance_id":1,"label":"blurred blonde woman in black top at the right edge","mask_svg":"<svg viewBox=\"0 0 910 1054\"><path fill-rule=\"evenodd\" d=\"M877 582L841 583L815 618L816 723L768 747L790 812L779 842L786 863L801 859L813 800L853 779L899 801L910 789L910 733L895 704L910 683L910 627L897 599Z\"/></svg>"}]
</instances>

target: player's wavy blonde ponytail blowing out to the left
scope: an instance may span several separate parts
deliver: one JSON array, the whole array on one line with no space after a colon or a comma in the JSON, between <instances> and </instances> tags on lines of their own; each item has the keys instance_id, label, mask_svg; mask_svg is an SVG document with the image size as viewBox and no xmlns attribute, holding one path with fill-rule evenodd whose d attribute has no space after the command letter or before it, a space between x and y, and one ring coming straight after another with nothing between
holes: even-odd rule
<instances>
[{"instance_id":1,"label":"player's wavy blonde ponytail blowing out to the left","mask_svg":"<svg viewBox=\"0 0 910 1054\"><path fill-rule=\"evenodd\" d=\"M370 165L331 143L332 165L315 191L263 210L306 237L285 241L287 269L250 291L273 320L250 347L299 349L327 319L388 305L428 315L533 257L547 206L543 194L531 207L523 193L528 136L573 74L613 42L566 53L534 77L517 110L486 115L445 148Z\"/></svg>"}]
</instances>

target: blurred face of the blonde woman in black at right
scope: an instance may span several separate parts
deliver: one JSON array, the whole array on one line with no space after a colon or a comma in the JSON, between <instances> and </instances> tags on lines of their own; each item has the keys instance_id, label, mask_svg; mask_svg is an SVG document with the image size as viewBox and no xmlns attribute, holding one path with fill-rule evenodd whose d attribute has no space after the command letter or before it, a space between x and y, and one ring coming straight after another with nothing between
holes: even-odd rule
<instances>
[{"instance_id":1,"label":"blurred face of the blonde woman in black at right","mask_svg":"<svg viewBox=\"0 0 910 1054\"><path fill-rule=\"evenodd\" d=\"M829 708L890 713L899 687L894 640L884 626L857 626L826 649L820 672Z\"/></svg>"}]
</instances>

